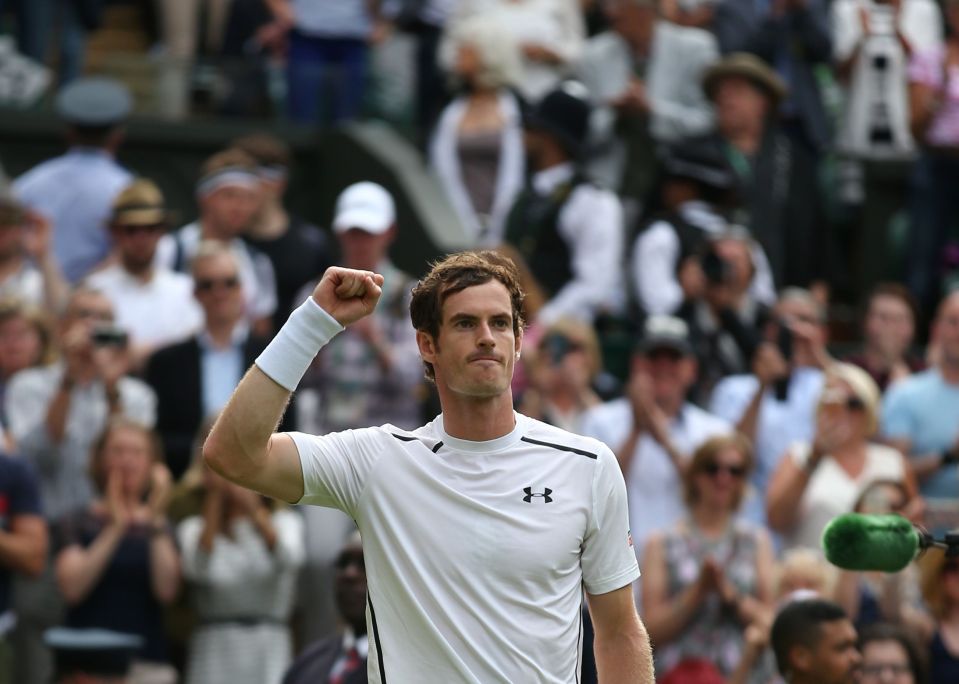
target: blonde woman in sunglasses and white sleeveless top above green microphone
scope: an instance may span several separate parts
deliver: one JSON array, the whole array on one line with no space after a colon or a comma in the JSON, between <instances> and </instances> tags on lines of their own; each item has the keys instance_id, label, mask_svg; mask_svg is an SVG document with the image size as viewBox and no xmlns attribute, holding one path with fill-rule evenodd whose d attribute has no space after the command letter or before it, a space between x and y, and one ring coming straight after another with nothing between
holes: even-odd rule
<instances>
[{"instance_id":1,"label":"blonde woman in sunglasses and white sleeveless top above green microphone","mask_svg":"<svg viewBox=\"0 0 959 684\"><path fill-rule=\"evenodd\" d=\"M915 477L902 454L869 441L878 425L879 388L847 363L827 369L811 444L793 446L769 484L766 515L786 548L818 549L826 524L852 511L876 480L902 482L915 496Z\"/></svg>"}]
</instances>

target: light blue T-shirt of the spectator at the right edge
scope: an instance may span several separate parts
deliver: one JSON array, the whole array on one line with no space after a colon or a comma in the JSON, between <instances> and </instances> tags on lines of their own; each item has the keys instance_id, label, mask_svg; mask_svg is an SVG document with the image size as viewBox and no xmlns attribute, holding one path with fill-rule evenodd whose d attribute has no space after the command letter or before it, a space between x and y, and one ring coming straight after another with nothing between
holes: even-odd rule
<instances>
[{"instance_id":1,"label":"light blue T-shirt of the spectator at the right edge","mask_svg":"<svg viewBox=\"0 0 959 684\"><path fill-rule=\"evenodd\" d=\"M908 439L911 457L951 448L959 436L959 385L947 383L937 368L896 383L882 404L881 431L889 439ZM922 483L922 495L954 498L957 470L954 465L940 468Z\"/></svg>"}]
</instances>

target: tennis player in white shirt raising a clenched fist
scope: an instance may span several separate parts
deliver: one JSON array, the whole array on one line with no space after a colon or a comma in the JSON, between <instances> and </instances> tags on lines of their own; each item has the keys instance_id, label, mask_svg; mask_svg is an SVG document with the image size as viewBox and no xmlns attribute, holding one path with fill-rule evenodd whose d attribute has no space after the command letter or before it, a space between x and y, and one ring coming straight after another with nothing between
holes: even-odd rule
<instances>
[{"instance_id":1,"label":"tennis player in white shirt raising a clenched fist","mask_svg":"<svg viewBox=\"0 0 959 684\"><path fill-rule=\"evenodd\" d=\"M652 684L612 452L512 407L523 293L491 252L435 265L410 306L443 413L273 434L318 349L368 316L383 278L331 268L246 375L204 446L228 479L338 507L363 534L371 682L575 682L585 586L604 682Z\"/></svg>"}]
</instances>

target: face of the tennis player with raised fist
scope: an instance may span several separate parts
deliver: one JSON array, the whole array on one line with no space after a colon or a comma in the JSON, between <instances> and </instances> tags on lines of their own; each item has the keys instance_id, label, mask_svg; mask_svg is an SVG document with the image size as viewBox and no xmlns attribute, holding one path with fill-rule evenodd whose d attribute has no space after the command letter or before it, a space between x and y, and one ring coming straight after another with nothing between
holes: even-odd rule
<instances>
[{"instance_id":1,"label":"face of the tennis player with raised fist","mask_svg":"<svg viewBox=\"0 0 959 684\"><path fill-rule=\"evenodd\" d=\"M509 292L498 280L449 295L437 338L422 331L416 337L437 387L474 398L509 390L522 336L513 333Z\"/></svg>"}]
</instances>

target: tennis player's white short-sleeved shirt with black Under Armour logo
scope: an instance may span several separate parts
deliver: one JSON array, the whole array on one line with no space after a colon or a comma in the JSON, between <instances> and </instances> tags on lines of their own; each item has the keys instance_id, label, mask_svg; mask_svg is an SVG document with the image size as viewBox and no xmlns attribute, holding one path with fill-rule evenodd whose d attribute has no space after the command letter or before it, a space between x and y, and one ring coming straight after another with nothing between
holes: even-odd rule
<instances>
[{"instance_id":1,"label":"tennis player's white short-sleeved shirt with black Under Armour logo","mask_svg":"<svg viewBox=\"0 0 959 684\"><path fill-rule=\"evenodd\" d=\"M639 576L606 446L520 414L488 442L450 437L442 415L291 436L300 503L363 534L370 682L578 681L583 587Z\"/></svg>"}]
</instances>

